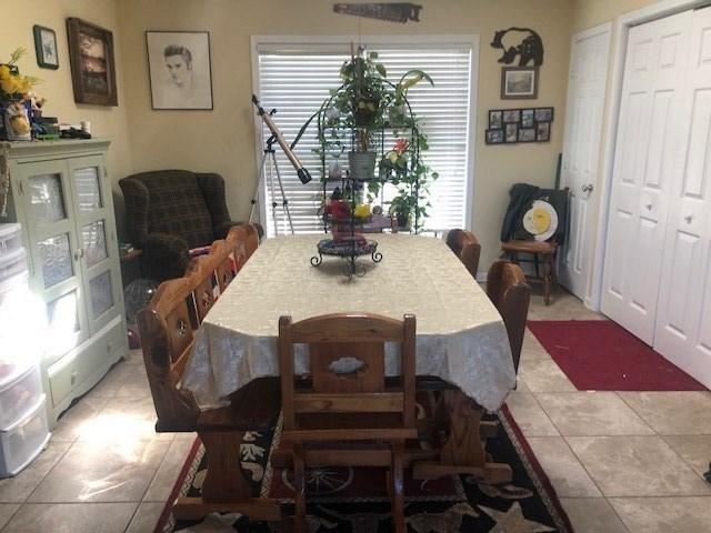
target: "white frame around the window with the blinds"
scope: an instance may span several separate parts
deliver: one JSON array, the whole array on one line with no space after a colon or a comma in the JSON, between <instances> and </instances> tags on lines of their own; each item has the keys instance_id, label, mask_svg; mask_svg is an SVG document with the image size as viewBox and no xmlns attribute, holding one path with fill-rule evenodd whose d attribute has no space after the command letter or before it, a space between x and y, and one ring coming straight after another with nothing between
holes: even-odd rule
<instances>
[{"instance_id":1,"label":"white frame around the window with the blinds","mask_svg":"<svg viewBox=\"0 0 711 533\"><path fill-rule=\"evenodd\" d=\"M251 66L252 66L252 92L257 95L261 94L261 87L259 82L259 50L260 47L277 48L278 46L293 46L302 44L312 47L313 51L319 49L332 50L332 47L348 47L350 43L364 42L370 49L377 50L378 44L420 44L423 48L437 49L438 47L445 48L451 44L468 44L471 46L471 62L469 66L469 128L468 128L468 142L465 154L465 183L464 183L464 229L472 230L473 225L473 211L474 211L474 184L475 184L475 167L477 167L477 122L479 115L479 34L427 34L427 36L273 36L273 34L257 34L250 36L250 49L251 49ZM417 67L417 66L415 66ZM435 81L437 82L437 81ZM269 103L269 102L267 102ZM316 111L316 110L314 110ZM261 161L264 145L262 139L262 121L261 118L254 112L254 169L259 173L259 163ZM279 124L277 124L279 125ZM287 142L291 143L293 139L287 139ZM259 178L257 174L256 179ZM313 179L318 180L318 173L313 173ZM253 185L258 187L257 183ZM267 202L267 180L261 188L257 191L259 200L259 222L266 227L268 218ZM443 230L444 228L437 228L435 230Z\"/></svg>"}]
</instances>

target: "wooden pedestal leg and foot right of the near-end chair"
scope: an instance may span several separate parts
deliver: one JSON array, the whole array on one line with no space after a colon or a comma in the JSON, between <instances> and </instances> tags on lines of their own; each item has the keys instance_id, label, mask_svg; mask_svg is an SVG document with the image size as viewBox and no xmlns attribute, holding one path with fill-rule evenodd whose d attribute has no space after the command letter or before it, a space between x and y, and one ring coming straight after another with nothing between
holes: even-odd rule
<instances>
[{"instance_id":1,"label":"wooden pedestal leg and foot right of the near-end chair","mask_svg":"<svg viewBox=\"0 0 711 533\"><path fill-rule=\"evenodd\" d=\"M483 408L461 391L442 391L437 405L435 424L447 438L440 449L439 462L420 461L412 467L412 477L427 480L452 474L472 474L489 483L509 483L511 466L488 463L482 435L491 435L492 428L482 423Z\"/></svg>"}]
</instances>

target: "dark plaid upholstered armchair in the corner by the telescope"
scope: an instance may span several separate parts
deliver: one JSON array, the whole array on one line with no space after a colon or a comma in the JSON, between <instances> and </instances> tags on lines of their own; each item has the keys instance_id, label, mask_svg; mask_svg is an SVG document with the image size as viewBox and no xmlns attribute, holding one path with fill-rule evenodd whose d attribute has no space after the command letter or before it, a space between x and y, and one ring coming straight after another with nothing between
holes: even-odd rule
<instances>
[{"instance_id":1,"label":"dark plaid upholstered armchair in the corner by the telescope","mask_svg":"<svg viewBox=\"0 0 711 533\"><path fill-rule=\"evenodd\" d=\"M143 275L180 278L189 250L223 239L232 225L219 174L159 170L119 181L126 200L127 234L143 250Z\"/></svg>"}]
</instances>

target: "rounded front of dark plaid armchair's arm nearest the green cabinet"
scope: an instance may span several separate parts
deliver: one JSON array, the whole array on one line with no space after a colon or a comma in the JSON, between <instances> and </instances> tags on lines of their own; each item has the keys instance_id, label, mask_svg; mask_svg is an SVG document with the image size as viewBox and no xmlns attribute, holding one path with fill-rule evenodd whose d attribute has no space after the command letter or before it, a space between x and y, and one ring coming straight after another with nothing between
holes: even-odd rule
<instances>
[{"instance_id":1,"label":"rounded front of dark plaid armchair's arm nearest the green cabinet","mask_svg":"<svg viewBox=\"0 0 711 533\"><path fill-rule=\"evenodd\" d=\"M149 233L143 242L143 275L156 281L182 278L190 262L188 243L168 233Z\"/></svg>"}]
</instances>

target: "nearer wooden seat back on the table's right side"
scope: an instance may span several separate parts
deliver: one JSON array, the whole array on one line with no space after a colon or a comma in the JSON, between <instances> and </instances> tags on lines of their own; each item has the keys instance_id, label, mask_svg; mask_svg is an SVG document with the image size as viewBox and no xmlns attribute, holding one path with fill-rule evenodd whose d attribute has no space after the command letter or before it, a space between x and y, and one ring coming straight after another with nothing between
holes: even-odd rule
<instances>
[{"instance_id":1,"label":"nearer wooden seat back on the table's right side","mask_svg":"<svg viewBox=\"0 0 711 533\"><path fill-rule=\"evenodd\" d=\"M513 368L518 372L531 288L519 265L509 261L497 261L487 274L487 294L503 318L511 344Z\"/></svg>"}]
</instances>

